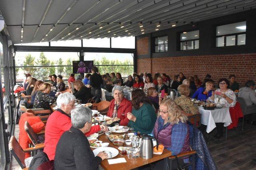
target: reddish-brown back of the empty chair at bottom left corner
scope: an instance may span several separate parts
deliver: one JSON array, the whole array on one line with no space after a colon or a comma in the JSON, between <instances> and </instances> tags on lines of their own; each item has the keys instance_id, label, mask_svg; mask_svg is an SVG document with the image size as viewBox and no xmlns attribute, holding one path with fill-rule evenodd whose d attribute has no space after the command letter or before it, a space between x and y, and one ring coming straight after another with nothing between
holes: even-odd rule
<instances>
[{"instance_id":1,"label":"reddish-brown back of the empty chair at bottom left corner","mask_svg":"<svg viewBox=\"0 0 256 170\"><path fill-rule=\"evenodd\" d=\"M9 141L9 151L12 153L12 155L14 156L15 160L18 162L20 167L22 169L26 168L25 152L20 147L20 144L18 143L18 141L16 140L16 138L14 136L12 136L10 138L10 141Z\"/></svg>"}]
</instances>

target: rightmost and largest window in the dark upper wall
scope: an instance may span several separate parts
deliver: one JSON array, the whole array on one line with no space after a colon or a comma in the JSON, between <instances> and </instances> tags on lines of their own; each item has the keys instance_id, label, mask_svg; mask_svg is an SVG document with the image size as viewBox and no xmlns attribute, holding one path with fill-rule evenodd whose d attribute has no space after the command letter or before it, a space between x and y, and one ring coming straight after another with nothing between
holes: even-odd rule
<instances>
[{"instance_id":1,"label":"rightmost and largest window in the dark upper wall","mask_svg":"<svg viewBox=\"0 0 256 170\"><path fill-rule=\"evenodd\" d=\"M245 45L246 21L216 27L216 47Z\"/></svg>"}]
</instances>

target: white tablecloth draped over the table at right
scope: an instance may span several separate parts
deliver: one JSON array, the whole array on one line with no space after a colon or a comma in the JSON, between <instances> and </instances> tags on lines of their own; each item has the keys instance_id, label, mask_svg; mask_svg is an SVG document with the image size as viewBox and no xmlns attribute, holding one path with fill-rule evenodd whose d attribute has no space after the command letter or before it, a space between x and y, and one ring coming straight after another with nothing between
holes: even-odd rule
<instances>
[{"instance_id":1,"label":"white tablecloth draped over the table at right","mask_svg":"<svg viewBox=\"0 0 256 170\"><path fill-rule=\"evenodd\" d=\"M216 127L215 123L224 123L224 127L232 123L229 107L223 107L221 109L215 108L214 110L205 110L203 107L198 108L199 112L202 114L201 123L207 125L207 133L210 133Z\"/></svg>"}]
</instances>

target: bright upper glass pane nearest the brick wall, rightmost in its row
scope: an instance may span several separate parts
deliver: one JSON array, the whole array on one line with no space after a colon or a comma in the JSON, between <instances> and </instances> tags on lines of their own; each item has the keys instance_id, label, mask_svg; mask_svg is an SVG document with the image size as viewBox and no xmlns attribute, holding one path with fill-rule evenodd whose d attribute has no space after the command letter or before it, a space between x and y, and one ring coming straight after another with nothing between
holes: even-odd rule
<instances>
[{"instance_id":1,"label":"bright upper glass pane nearest the brick wall, rightmost in its row","mask_svg":"<svg viewBox=\"0 0 256 170\"><path fill-rule=\"evenodd\" d=\"M112 48L135 49L135 37L111 38Z\"/></svg>"}]
</instances>

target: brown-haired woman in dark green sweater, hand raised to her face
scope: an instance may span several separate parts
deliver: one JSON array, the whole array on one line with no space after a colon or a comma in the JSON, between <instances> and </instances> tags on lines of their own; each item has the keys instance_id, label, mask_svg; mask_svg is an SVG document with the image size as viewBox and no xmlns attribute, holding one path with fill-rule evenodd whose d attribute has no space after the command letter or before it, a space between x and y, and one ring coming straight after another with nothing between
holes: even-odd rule
<instances>
[{"instance_id":1,"label":"brown-haired woman in dark green sweater, hand raised to her face","mask_svg":"<svg viewBox=\"0 0 256 170\"><path fill-rule=\"evenodd\" d=\"M130 120L128 126L142 134L151 133L156 122L156 112L143 90L132 91L132 106L132 113L127 113Z\"/></svg>"}]
</instances>

